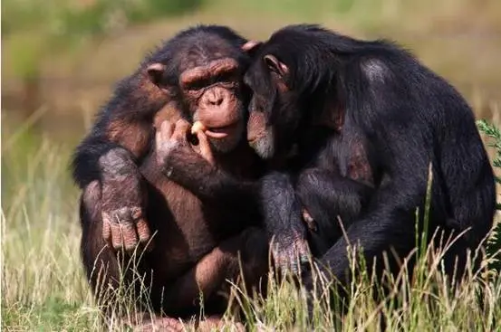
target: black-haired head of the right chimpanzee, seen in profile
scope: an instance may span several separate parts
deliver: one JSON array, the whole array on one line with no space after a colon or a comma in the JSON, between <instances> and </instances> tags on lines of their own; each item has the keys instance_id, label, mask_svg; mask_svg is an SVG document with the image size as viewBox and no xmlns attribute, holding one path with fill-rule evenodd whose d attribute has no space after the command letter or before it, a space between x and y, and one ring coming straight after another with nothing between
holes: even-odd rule
<instances>
[{"instance_id":1,"label":"black-haired head of the right chimpanzee, seen in profile","mask_svg":"<svg viewBox=\"0 0 501 332\"><path fill-rule=\"evenodd\" d=\"M336 84L337 59L311 42L311 34L319 31L314 25L293 25L265 43L243 46L254 59L244 77L253 91L247 140L260 157L287 154L304 126L340 127L340 114L331 108L339 107L340 98L326 93Z\"/></svg>"}]
</instances>

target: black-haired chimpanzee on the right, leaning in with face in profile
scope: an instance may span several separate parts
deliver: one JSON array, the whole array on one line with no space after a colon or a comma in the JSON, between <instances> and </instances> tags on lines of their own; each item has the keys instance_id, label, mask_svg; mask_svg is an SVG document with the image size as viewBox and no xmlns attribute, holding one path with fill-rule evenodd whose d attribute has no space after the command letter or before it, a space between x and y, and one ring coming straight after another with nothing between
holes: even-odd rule
<instances>
[{"instance_id":1,"label":"black-haired chimpanzee on the right, leaning in with face in profile","mask_svg":"<svg viewBox=\"0 0 501 332\"><path fill-rule=\"evenodd\" d=\"M265 223L283 246L278 252L294 252L288 248L306 239L299 206L329 229L340 190L353 190L339 185L340 175L346 182L371 175L369 201L320 262L327 277L346 282L348 239L361 245L367 266L377 259L381 272L384 251L391 261L415 247L417 208L424 229L430 166L428 241L438 229L446 240L467 231L444 257L446 271L457 263L461 276L467 250L493 223L495 184L473 112L458 91L393 43L359 41L317 25L287 26L245 48L255 54L244 79L254 91L248 140L268 159L295 150L289 164L295 172L271 174L263 186ZM278 265L294 260L278 258ZM305 282L312 287L311 276Z\"/></svg>"}]
</instances>

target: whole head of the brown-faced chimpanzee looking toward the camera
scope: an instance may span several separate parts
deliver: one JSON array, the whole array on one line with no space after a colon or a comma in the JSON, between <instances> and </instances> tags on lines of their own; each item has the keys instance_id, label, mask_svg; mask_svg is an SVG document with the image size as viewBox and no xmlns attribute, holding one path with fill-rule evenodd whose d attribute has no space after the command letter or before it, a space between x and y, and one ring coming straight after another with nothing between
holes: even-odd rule
<instances>
[{"instance_id":1,"label":"whole head of the brown-faced chimpanzee looking toward the camera","mask_svg":"<svg viewBox=\"0 0 501 332\"><path fill-rule=\"evenodd\" d=\"M176 101L183 117L204 124L215 152L232 150L244 135L245 43L227 27L201 25L178 33L145 62L149 79Z\"/></svg>"}]
</instances>

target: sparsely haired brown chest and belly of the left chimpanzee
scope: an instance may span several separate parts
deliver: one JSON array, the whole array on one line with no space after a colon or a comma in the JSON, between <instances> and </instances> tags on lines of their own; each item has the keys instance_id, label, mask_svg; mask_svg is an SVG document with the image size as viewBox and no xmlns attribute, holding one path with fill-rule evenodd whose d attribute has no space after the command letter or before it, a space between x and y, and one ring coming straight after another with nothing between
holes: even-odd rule
<instances>
[{"instance_id":1,"label":"sparsely haired brown chest and belly of the left chimpanzee","mask_svg":"<svg viewBox=\"0 0 501 332\"><path fill-rule=\"evenodd\" d=\"M197 196L161 174L154 158L145 160L141 173L149 187L146 214L155 234L151 260L155 270L169 276L182 273L217 243L240 231L232 227L236 221L226 218L224 211L202 204Z\"/></svg>"}]
</instances>

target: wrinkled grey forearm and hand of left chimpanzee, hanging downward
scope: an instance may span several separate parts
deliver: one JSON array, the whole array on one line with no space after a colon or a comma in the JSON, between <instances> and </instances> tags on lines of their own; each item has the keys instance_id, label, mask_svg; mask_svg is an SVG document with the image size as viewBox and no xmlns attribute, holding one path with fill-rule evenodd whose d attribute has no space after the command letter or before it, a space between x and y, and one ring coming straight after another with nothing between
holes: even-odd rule
<instances>
[{"instance_id":1,"label":"wrinkled grey forearm and hand of left chimpanzee, hanging downward","mask_svg":"<svg viewBox=\"0 0 501 332\"><path fill-rule=\"evenodd\" d=\"M101 167L102 236L116 249L133 251L138 243L148 244L149 226L143 216L145 195L138 167L127 150L111 149L99 160ZM148 243L149 242L149 243Z\"/></svg>"}]
</instances>

